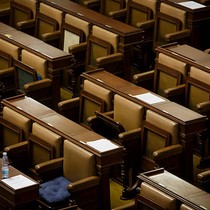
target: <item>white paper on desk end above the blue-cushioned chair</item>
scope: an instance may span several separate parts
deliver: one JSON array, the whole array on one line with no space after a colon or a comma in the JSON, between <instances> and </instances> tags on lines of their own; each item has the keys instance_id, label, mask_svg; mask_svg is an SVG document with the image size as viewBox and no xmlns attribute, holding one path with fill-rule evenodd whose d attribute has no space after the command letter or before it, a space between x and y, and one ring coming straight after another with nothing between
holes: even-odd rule
<instances>
[{"instance_id":1,"label":"white paper on desk end above the blue-cushioned chair","mask_svg":"<svg viewBox=\"0 0 210 210\"><path fill-rule=\"evenodd\" d=\"M99 139L96 141L88 141L86 144L100 152L106 152L106 151L118 148L118 146L116 144L113 144L108 139Z\"/></svg>"}]
</instances>

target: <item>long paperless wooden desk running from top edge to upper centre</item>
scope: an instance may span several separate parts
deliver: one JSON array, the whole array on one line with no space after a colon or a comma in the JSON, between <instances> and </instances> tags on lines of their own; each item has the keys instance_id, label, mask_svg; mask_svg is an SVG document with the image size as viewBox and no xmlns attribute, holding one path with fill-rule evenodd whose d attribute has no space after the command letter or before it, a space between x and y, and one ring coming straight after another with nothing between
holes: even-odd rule
<instances>
[{"instance_id":1,"label":"long paperless wooden desk running from top edge to upper centre","mask_svg":"<svg viewBox=\"0 0 210 210\"><path fill-rule=\"evenodd\" d=\"M71 14L92 25L97 25L105 30L119 35L118 51L123 54L123 74L126 80L131 80L131 47L139 43L142 39L142 32L136 27L124 24L98 12L85 8L69 0L40 0L64 13Z\"/></svg>"}]
</instances>

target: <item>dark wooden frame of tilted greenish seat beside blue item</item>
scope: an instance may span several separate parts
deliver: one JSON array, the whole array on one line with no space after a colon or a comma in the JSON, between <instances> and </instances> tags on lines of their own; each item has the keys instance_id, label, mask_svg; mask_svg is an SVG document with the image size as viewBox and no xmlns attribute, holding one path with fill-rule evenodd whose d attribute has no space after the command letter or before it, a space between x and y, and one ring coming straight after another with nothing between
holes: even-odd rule
<instances>
[{"instance_id":1,"label":"dark wooden frame of tilted greenish seat beside blue item","mask_svg":"<svg viewBox=\"0 0 210 210\"><path fill-rule=\"evenodd\" d=\"M24 71L26 74L30 75L30 77L32 78L32 81L37 80L37 72L33 67L28 66L27 64L19 60L14 60L13 66L14 66L14 72L15 72L15 87L17 91L23 91L23 87L20 87L21 83L20 83L19 70ZM32 81L28 81L27 83L32 82Z\"/></svg>"}]
</instances>

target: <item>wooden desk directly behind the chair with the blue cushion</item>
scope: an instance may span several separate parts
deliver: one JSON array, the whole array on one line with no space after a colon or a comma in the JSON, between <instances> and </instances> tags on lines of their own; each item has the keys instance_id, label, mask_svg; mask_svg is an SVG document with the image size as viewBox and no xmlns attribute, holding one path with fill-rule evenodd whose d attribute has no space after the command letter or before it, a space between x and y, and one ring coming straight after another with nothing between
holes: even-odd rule
<instances>
[{"instance_id":1,"label":"wooden desk directly behind the chair with the blue cushion","mask_svg":"<svg viewBox=\"0 0 210 210\"><path fill-rule=\"evenodd\" d=\"M101 208L110 209L109 174L110 166L122 161L123 147L117 145L116 149L100 152L87 145L88 141L99 140L104 137L82 127L63 117L50 108L40 104L32 98L17 96L2 101L4 106L10 107L16 112L30 118L42 126L68 139L82 148L96 155L96 169L101 180Z\"/></svg>"}]
</instances>

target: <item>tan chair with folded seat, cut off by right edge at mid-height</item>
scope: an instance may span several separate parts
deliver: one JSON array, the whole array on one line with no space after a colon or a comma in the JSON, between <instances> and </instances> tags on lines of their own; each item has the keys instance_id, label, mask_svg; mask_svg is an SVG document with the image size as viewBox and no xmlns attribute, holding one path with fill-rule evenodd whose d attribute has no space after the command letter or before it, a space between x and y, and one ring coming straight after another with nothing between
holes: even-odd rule
<instances>
[{"instance_id":1,"label":"tan chair with folded seat, cut off by right edge at mid-height","mask_svg":"<svg viewBox=\"0 0 210 210\"><path fill-rule=\"evenodd\" d=\"M191 66L185 93L186 106L198 111L196 105L210 99L209 73Z\"/></svg>"}]
</instances>

